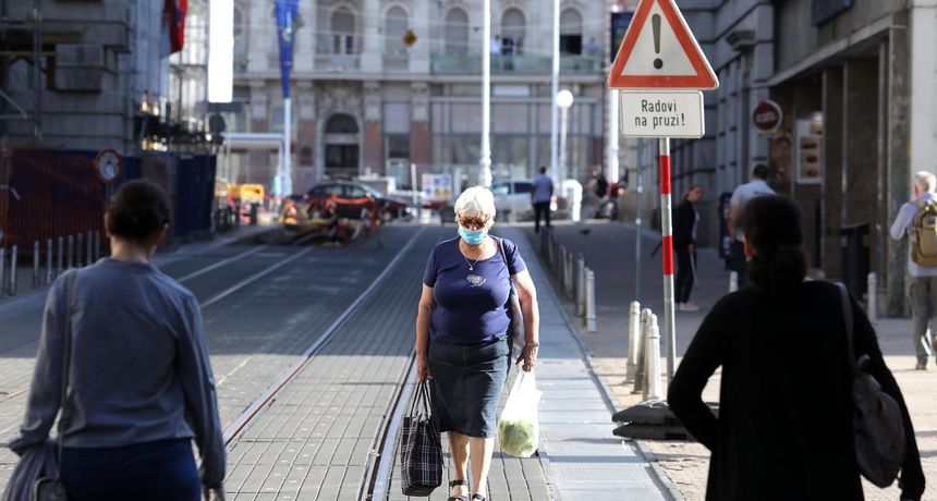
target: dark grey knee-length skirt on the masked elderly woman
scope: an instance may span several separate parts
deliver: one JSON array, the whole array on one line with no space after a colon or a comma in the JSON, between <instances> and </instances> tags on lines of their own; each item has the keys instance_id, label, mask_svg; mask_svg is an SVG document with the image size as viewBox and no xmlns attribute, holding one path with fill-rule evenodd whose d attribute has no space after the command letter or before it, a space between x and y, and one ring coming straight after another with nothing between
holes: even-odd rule
<instances>
[{"instance_id":1,"label":"dark grey knee-length skirt on the masked elderly woman","mask_svg":"<svg viewBox=\"0 0 937 501\"><path fill-rule=\"evenodd\" d=\"M430 341L429 386L433 417L439 431L466 437L497 435L498 402L511 367L508 335L482 344Z\"/></svg>"}]
</instances>

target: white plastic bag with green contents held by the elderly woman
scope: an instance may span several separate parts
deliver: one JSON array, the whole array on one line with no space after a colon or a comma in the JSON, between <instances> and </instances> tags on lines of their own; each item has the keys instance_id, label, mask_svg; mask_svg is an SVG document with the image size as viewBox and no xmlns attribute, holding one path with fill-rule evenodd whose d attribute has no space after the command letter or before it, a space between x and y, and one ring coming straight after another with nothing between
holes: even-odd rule
<instances>
[{"instance_id":1,"label":"white plastic bag with green contents held by the elderly woman","mask_svg":"<svg viewBox=\"0 0 937 501\"><path fill-rule=\"evenodd\" d=\"M540 426L537 405L540 392L534 371L521 371L511 387L511 394L498 419L498 442L501 450L518 457L530 457L539 445Z\"/></svg>"}]
</instances>

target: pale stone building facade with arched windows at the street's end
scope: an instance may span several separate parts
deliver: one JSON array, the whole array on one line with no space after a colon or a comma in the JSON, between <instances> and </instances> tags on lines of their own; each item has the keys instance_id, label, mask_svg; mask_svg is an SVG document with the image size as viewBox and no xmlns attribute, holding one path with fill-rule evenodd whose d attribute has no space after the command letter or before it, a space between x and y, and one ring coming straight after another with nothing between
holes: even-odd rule
<instances>
[{"instance_id":1,"label":"pale stone building facade with arched windows at the street's end","mask_svg":"<svg viewBox=\"0 0 937 501\"><path fill-rule=\"evenodd\" d=\"M483 40L482 0L315 0L300 5L292 74L294 191L366 173L410 184L421 172L477 169L482 53L491 51L496 178L530 176L550 158L552 9L494 0ZM570 169L604 163L606 2L561 2L561 87L575 96ZM280 132L283 99L271 4L235 2L234 98L243 132ZM404 35L415 41L407 46ZM231 127L229 127L231 130ZM266 183L276 150L233 148L241 181Z\"/></svg>"}]
</instances>

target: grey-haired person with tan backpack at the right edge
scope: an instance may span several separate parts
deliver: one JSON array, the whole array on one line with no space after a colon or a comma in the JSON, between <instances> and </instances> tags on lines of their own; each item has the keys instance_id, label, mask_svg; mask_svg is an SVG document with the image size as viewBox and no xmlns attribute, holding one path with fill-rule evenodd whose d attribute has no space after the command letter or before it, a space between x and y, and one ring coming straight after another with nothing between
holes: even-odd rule
<instances>
[{"instance_id":1,"label":"grey-haired person with tan backpack at the right edge","mask_svg":"<svg viewBox=\"0 0 937 501\"><path fill-rule=\"evenodd\" d=\"M914 174L914 200L905 203L891 223L891 237L908 236L908 272L911 286L911 337L917 355L916 370L927 370L932 340L928 323L937 317L937 178L930 172ZM937 350L937 347L935 347Z\"/></svg>"}]
</instances>

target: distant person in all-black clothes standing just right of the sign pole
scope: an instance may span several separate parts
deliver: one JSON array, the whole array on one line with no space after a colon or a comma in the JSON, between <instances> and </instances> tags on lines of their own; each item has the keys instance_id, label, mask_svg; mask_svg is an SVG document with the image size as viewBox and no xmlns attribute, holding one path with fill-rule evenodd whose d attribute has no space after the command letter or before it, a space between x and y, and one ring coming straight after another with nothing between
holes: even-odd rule
<instances>
[{"instance_id":1,"label":"distant person in all-black clothes standing just right of the sign pole","mask_svg":"<svg viewBox=\"0 0 937 501\"><path fill-rule=\"evenodd\" d=\"M703 186L694 184L683 195L673 218L673 250L677 253L677 281L674 282L677 309L698 311L699 306L690 302L696 269L696 230L699 212L694 205L703 198Z\"/></svg>"}]
</instances>

